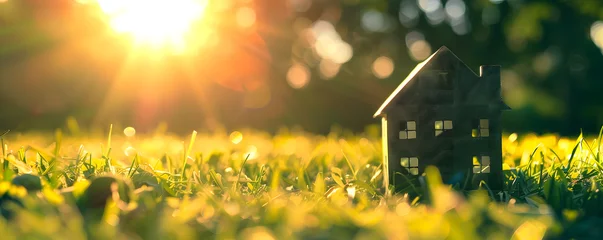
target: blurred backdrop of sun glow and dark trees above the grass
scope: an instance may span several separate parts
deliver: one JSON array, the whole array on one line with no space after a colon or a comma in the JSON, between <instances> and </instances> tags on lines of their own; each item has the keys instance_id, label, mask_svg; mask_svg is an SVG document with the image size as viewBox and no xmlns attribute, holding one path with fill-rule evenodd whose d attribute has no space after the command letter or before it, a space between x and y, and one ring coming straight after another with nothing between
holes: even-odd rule
<instances>
[{"instance_id":1,"label":"blurred backdrop of sun glow and dark trees above the grass","mask_svg":"<svg viewBox=\"0 0 603 240\"><path fill-rule=\"evenodd\" d=\"M595 0L0 0L0 130L363 131L446 45L502 65L507 132L598 133Z\"/></svg>"}]
</instances>

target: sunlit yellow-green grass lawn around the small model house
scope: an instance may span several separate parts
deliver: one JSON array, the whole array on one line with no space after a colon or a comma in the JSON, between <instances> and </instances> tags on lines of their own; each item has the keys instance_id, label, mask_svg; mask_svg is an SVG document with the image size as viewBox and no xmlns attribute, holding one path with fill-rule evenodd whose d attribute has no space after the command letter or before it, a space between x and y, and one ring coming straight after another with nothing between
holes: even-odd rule
<instances>
[{"instance_id":1,"label":"sunlit yellow-green grass lawn around the small model house","mask_svg":"<svg viewBox=\"0 0 603 240\"><path fill-rule=\"evenodd\" d=\"M405 194L384 192L378 132L10 132L1 239L603 237L600 136L507 134L505 192L428 169Z\"/></svg>"}]
</instances>

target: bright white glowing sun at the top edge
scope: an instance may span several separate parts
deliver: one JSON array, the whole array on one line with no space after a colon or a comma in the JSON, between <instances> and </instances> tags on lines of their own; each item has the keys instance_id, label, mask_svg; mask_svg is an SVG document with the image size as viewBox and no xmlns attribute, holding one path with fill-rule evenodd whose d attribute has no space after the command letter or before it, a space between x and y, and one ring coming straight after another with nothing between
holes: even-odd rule
<instances>
[{"instance_id":1,"label":"bright white glowing sun at the top edge","mask_svg":"<svg viewBox=\"0 0 603 240\"><path fill-rule=\"evenodd\" d=\"M137 44L182 50L208 0L98 0L109 24Z\"/></svg>"}]
</instances>

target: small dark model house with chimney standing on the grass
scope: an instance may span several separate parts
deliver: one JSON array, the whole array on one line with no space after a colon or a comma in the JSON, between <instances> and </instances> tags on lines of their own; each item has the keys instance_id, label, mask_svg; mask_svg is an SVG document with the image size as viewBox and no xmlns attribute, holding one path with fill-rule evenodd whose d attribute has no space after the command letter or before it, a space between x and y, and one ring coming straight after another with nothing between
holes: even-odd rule
<instances>
[{"instance_id":1,"label":"small dark model house with chimney standing on the grass","mask_svg":"<svg viewBox=\"0 0 603 240\"><path fill-rule=\"evenodd\" d=\"M481 66L477 75L441 47L412 70L374 115L382 118L386 187L403 184L432 165L445 182L475 189L483 180L500 190L500 121L507 109L500 66Z\"/></svg>"}]
</instances>

